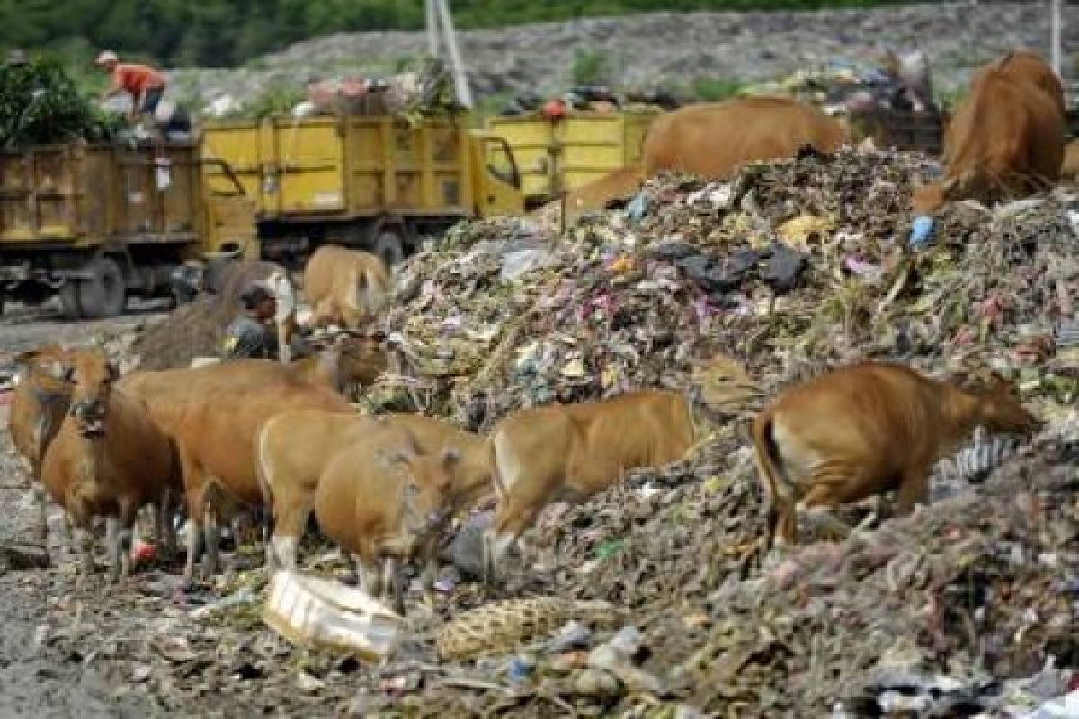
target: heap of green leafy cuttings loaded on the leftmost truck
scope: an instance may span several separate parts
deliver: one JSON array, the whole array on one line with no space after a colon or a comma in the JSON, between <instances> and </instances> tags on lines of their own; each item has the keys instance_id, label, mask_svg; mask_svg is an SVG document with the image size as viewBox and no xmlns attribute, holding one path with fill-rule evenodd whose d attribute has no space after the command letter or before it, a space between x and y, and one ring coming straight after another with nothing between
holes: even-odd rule
<instances>
[{"instance_id":1,"label":"heap of green leafy cuttings loaded on the leftmost truck","mask_svg":"<svg viewBox=\"0 0 1079 719\"><path fill-rule=\"evenodd\" d=\"M122 126L122 119L79 94L59 61L16 56L0 65L0 148L100 142L113 139Z\"/></svg>"}]
</instances>

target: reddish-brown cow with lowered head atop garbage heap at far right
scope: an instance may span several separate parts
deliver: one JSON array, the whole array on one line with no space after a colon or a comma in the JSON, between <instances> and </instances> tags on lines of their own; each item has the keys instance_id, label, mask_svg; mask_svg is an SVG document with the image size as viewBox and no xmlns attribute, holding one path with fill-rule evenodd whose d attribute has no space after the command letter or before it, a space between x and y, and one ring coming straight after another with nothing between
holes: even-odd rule
<instances>
[{"instance_id":1,"label":"reddish-brown cow with lowered head atop garbage heap at far right","mask_svg":"<svg viewBox=\"0 0 1079 719\"><path fill-rule=\"evenodd\" d=\"M915 191L916 212L967 198L993 203L1056 184L1065 120L1060 98L1035 72L1040 61L1017 53L976 73L944 138L944 176Z\"/></svg>"}]
</instances>

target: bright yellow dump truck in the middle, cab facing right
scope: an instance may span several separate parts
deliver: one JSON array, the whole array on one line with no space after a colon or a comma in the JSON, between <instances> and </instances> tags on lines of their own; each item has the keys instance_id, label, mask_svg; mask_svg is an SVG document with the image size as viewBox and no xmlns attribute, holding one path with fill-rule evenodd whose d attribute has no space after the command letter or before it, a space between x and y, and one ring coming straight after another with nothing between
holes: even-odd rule
<instances>
[{"instance_id":1,"label":"bright yellow dump truck in the middle, cab facing right","mask_svg":"<svg viewBox=\"0 0 1079 719\"><path fill-rule=\"evenodd\" d=\"M277 116L205 128L210 189L256 204L258 254L288 264L323 243L391 264L465 218L523 208L514 153L467 116Z\"/></svg>"}]
</instances>

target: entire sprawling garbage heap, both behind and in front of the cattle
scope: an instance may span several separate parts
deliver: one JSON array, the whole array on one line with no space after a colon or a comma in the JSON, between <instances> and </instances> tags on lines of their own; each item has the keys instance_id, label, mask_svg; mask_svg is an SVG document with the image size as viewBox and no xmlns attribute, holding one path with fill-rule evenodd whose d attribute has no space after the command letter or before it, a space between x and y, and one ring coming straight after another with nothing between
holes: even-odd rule
<instances>
[{"instance_id":1,"label":"entire sprawling garbage heap, both behind and in front of the cattle","mask_svg":"<svg viewBox=\"0 0 1079 719\"><path fill-rule=\"evenodd\" d=\"M911 192L933 172L917 153L845 150L728 182L663 176L568 227L550 211L462 223L397 267L381 321L393 369L364 411L484 431L522 407L670 387L692 398L700 441L549 508L489 590L475 580L490 512L462 517L434 611L413 584L387 662L269 628L265 572L243 569L260 567L256 548L187 593L160 571L104 598L43 573L57 598L42 645L107 655L124 667L115 701L166 711L1057 716L1079 689L1079 194L953 205L911 251ZM993 369L1046 426L1027 442L979 437L937 467L913 515L856 504L839 512L849 533L810 522L801 548L765 551L747 419L866 358ZM304 556L306 571L345 573L329 548ZM133 627L142 638L127 641Z\"/></svg>"}]
</instances>

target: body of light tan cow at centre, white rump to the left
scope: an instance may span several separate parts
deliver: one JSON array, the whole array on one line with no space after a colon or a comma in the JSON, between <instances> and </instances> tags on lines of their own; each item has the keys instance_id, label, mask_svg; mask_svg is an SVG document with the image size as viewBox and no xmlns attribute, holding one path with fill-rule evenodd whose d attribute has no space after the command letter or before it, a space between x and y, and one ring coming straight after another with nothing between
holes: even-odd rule
<instances>
[{"instance_id":1,"label":"body of light tan cow at centre, white rump to the left","mask_svg":"<svg viewBox=\"0 0 1079 719\"><path fill-rule=\"evenodd\" d=\"M549 502L579 501L625 470L682 459L693 434L685 397L659 390L527 410L502 420L488 440L498 495L494 524L483 538L488 576Z\"/></svg>"}]
</instances>

